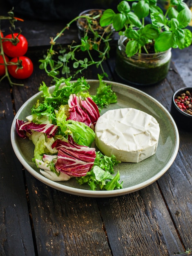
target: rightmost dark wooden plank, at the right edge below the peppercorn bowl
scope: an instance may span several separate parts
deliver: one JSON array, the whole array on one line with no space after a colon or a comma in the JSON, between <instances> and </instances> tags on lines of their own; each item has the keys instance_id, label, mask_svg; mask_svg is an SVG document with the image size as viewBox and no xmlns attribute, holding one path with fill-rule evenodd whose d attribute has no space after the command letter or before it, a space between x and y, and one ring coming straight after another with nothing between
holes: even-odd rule
<instances>
[{"instance_id":1,"label":"rightmost dark wooden plank, at the right edge below the peppercorn bowl","mask_svg":"<svg viewBox=\"0 0 192 256\"><path fill-rule=\"evenodd\" d=\"M191 133L180 131L179 153L169 171L158 181L185 249L191 249L192 245L191 152Z\"/></svg>"}]
</instances>

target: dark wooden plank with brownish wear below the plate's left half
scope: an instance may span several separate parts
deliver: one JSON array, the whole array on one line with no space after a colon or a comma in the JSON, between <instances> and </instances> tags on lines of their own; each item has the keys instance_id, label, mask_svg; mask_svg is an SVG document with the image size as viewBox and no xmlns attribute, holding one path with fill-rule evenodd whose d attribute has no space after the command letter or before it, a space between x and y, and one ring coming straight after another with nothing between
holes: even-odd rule
<instances>
[{"instance_id":1,"label":"dark wooden plank with brownish wear below the plate's left half","mask_svg":"<svg viewBox=\"0 0 192 256\"><path fill-rule=\"evenodd\" d=\"M57 191L26 175L39 256L112 255L96 199Z\"/></svg>"}]
</instances>

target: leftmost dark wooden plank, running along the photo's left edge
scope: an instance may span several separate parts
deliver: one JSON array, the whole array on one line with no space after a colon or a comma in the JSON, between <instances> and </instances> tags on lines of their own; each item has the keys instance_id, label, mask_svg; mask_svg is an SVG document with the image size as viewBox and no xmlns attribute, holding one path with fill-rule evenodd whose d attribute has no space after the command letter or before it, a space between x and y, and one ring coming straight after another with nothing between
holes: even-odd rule
<instances>
[{"instance_id":1,"label":"leftmost dark wooden plank, running along the photo's left edge","mask_svg":"<svg viewBox=\"0 0 192 256\"><path fill-rule=\"evenodd\" d=\"M10 141L13 108L7 81L0 84L0 255L35 255L22 166Z\"/></svg>"}]
</instances>

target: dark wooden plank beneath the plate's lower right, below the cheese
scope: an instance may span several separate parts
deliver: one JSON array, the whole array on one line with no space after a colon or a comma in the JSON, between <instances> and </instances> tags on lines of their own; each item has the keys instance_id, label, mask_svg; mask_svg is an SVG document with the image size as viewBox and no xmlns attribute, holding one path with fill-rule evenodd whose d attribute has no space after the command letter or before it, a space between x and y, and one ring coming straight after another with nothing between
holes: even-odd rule
<instances>
[{"instance_id":1,"label":"dark wooden plank beneath the plate's lower right, below the cheese","mask_svg":"<svg viewBox=\"0 0 192 256\"><path fill-rule=\"evenodd\" d=\"M98 200L114 256L183 251L156 183L129 195Z\"/></svg>"}]
</instances>

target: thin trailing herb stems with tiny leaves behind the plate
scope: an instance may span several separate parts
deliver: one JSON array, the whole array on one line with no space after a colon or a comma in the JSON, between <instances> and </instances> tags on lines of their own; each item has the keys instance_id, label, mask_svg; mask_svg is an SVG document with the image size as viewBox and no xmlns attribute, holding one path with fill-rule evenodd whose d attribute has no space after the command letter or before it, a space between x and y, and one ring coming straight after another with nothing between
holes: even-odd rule
<instances>
[{"instance_id":1,"label":"thin trailing herb stems with tiny leaves behind the plate","mask_svg":"<svg viewBox=\"0 0 192 256\"><path fill-rule=\"evenodd\" d=\"M44 69L48 76L53 78L53 81L59 80L60 72L66 78L70 76L74 78L91 65L96 65L97 68L100 67L103 72L102 75L108 76L103 69L102 63L106 58L109 58L109 41L112 39L111 35L113 31L110 29L111 25L108 25L104 28L103 34L99 34L92 27L92 25L95 26L95 22L98 18L100 20L101 15L102 14L98 14L98 16L77 16L71 20L55 38L51 38L51 47L48 49L47 54L44 55L44 59L40 59L39 61L41 62L40 69ZM63 36L72 23L82 18L87 21L87 28L84 31L84 36L80 38L80 42L76 43L73 41L68 47L62 47L60 45L60 49L57 52L54 49L57 39ZM91 37L89 37L90 32L92 33ZM100 47L101 44L102 47ZM80 51L85 52L87 56L83 59L79 59L78 52Z\"/></svg>"}]
</instances>

